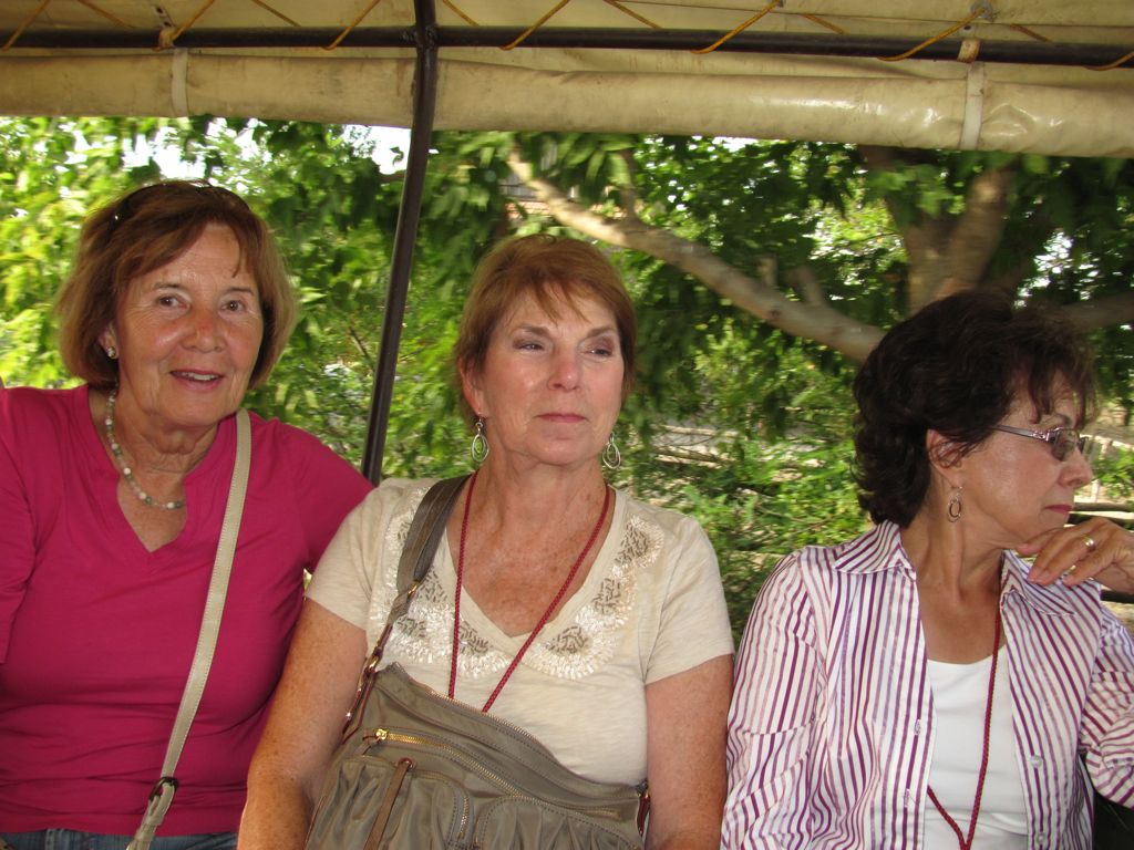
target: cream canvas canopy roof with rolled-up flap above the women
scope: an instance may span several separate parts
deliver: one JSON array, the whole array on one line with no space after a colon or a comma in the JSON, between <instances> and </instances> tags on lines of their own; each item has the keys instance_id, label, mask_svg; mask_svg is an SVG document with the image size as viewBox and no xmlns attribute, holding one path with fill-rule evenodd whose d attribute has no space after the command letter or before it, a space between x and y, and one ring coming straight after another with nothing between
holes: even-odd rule
<instances>
[{"instance_id":1,"label":"cream canvas canopy roof with rolled-up flap above the women","mask_svg":"<svg viewBox=\"0 0 1134 850\"><path fill-rule=\"evenodd\" d=\"M408 127L422 46L437 129L1134 155L1115 0L3 0L0 44L3 114Z\"/></svg>"}]
</instances>

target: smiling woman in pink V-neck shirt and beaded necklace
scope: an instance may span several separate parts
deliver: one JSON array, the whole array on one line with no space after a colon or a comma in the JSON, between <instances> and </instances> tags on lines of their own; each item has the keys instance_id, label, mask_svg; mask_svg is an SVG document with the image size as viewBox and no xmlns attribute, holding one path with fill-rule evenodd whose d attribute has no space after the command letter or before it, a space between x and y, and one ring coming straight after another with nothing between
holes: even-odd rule
<instances>
[{"instance_id":1,"label":"smiling woman in pink V-neck shirt and beaded necklace","mask_svg":"<svg viewBox=\"0 0 1134 850\"><path fill-rule=\"evenodd\" d=\"M198 182L85 223L59 298L85 383L0 389L0 847L125 848L185 689L236 456L295 299L264 222ZM367 482L252 417L225 613L156 850L226 848L312 568Z\"/></svg>"}]
</instances>

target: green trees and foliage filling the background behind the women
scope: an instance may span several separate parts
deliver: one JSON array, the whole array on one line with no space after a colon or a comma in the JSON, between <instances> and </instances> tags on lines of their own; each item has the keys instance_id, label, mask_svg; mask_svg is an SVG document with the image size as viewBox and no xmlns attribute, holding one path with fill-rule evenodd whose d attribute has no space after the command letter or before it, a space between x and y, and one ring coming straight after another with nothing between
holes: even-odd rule
<instances>
[{"instance_id":1,"label":"green trees and foliage filling the background behind the women","mask_svg":"<svg viewBox=\"0 0 1134 850\"><path fill-rule=\"evenodd\" d=\"M446 133L434 146L386 473L467 468L448 351L476 258L509 232L598 239L642 325L617 477L702 521L737 623L775 559L864 526L849 381L926 300L988 287L1063 305L1105 352L1108 401L1132 408L1125 161L582 134ZM172 152L268 219L304 305L249 405L357 461L401 193L372 147L357 128L291 121L0 120L0 374L68 380L48 305L78 223ZM1129 468L1116 454L1102 470L1117 498Z\"/></svg>"}]
</instances>

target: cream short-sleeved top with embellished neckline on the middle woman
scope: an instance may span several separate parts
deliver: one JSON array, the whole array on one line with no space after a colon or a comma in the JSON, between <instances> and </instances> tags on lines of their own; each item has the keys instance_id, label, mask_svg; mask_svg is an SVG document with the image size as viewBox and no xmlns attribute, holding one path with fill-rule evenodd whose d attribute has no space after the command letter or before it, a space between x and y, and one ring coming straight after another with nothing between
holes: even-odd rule
<instances>
[{"instance_id":1,"label":"cream short-sleeved top with embellished neckline on the middle woman","mask_svg":"<svg viewBox=\"0 0 1134 850\"><path fill-rule=\"evenodd\" d=\"M307 596L366 631L373 645L395 596L409 522L432 481L387 479L342 524ZM617 492L586 580L548 622L492 714L526 729L590 779L646 775L645 686L733 652L717 558L701 527ZM395 626L386 663L447 692L456 570L442 536L430 571ZM462 590L456 697L480 708L526 635L508 636Z\"/></svg>"}]
</instances>

